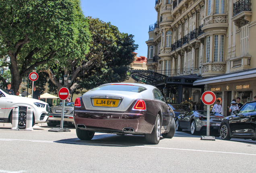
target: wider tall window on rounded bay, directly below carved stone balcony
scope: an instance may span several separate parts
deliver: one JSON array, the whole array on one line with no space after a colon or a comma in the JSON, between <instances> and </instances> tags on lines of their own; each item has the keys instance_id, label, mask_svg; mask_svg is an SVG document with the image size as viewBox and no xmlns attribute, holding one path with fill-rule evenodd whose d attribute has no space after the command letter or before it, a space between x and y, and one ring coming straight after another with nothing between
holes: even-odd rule
<instances>
[{"instance_id":1,"label":"wider tall window on rounded bay, directly below carved stone balcony","mask_svg":"<svg viewBox=\"0 0 256 173\"><path fill-rule=\"evenodd\" d=\"M223 62L224 35L214 36L214 62Z\"/></svg>"}]
</instances>

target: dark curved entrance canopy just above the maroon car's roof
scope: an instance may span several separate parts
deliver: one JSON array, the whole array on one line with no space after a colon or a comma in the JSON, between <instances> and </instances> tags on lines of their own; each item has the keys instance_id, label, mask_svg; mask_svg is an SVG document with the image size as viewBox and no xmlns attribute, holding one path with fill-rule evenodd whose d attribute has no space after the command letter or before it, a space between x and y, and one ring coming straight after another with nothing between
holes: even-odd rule
<instances>
[{"instance_id":1,"label":"dark curved entrance canopy just above the maroon car's roof","mask_svg":"<svg viewBox=\"0 0 256 173\"><path fill-rule=\"evenodd\" d=\"M145 84L157 86L158 84L166 83L168 76L164 74L153 72L150 70L130 70L127 74L136 80Z\"/></svg>"}]
</instances>

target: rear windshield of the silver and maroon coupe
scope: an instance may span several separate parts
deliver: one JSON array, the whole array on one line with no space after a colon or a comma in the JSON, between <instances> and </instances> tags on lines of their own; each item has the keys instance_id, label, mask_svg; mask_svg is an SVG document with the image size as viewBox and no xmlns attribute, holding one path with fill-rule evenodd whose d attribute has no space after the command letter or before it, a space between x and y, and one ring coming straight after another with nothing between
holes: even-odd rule
<instances>
[{"instance_id":1,"label":"rear windshield of the silver and maroon coupe","mask_svg":"<svg viewBox=\"0 0 256 173\"><path fill-rule=\"evenodd\" d=\"M135 86L132 84L108 84L108 85L101 85L93 90L130 91L130 92L140 93L147 89L144 87Z\"/></svg>"}]
</instances>

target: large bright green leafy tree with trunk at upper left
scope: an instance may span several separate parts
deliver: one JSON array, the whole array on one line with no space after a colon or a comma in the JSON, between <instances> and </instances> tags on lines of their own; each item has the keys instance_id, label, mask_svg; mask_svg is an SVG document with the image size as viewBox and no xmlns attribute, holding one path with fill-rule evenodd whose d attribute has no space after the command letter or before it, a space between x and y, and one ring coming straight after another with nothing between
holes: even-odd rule
<instances>
[{"instance_id":1,"label":"large bright green leafy tree with trunk at upper left","mask_svg":"<svg viewBox=\"0 0 256 173\"><path fill-rule=\"evenodd\" d=\"M14 92L34 67L85 54L89 40L80 0L0 1L0 57L10 58Z\"/></svg>"}]
</instances>

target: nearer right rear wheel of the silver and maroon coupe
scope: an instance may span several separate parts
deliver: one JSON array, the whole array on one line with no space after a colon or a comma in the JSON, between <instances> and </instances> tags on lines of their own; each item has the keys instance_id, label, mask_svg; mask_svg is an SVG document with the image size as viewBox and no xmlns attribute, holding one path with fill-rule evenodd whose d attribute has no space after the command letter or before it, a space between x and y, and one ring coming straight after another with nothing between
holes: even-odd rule
<instances>
[{"instance_id":1,"label":"nearer right rear wheel of the silver and maroon coupe","mask_svg":"<svg viewBox=\"0 0 256 173\"><path fill-rule=\"evenodd\" d=\"M160 115L157 114L157 119L155 121L154 129L151 134L146 134L145 139L149 144L158 144L161 135L161 119Z\"/></svg>"}]
</instances>

